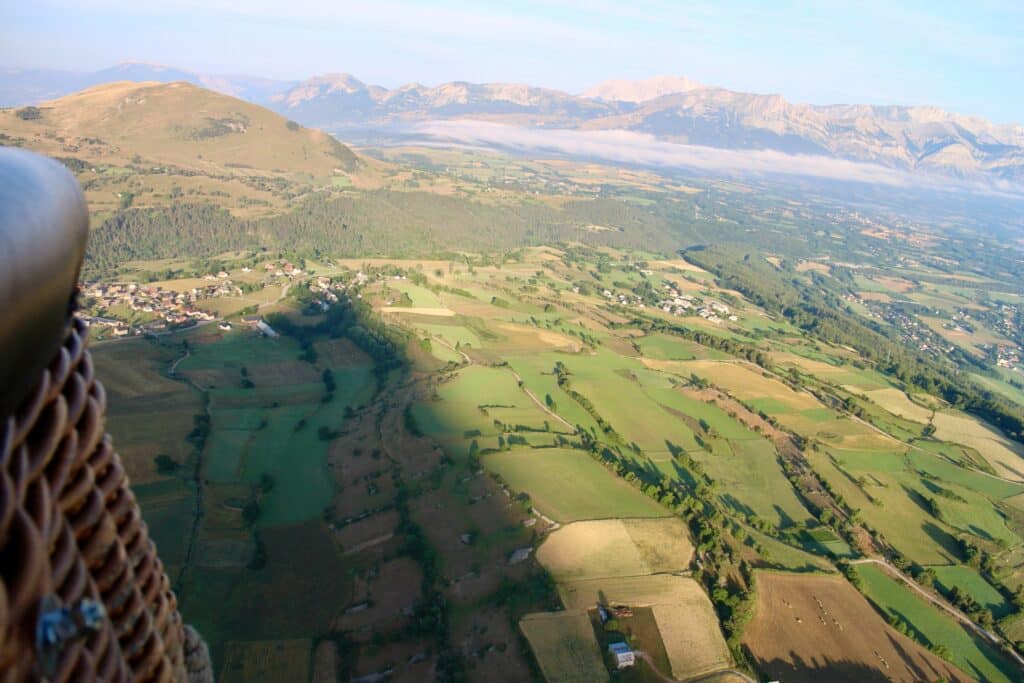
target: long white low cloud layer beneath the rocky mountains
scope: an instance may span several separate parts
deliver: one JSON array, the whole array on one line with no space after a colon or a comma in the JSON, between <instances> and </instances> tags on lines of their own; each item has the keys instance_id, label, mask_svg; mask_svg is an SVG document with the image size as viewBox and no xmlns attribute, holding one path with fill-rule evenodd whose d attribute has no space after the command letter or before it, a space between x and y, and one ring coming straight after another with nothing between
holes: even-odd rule
<instances>
[{"instance_id":1,"label":"long white low cloud layer beneath the rocky mountains","mask_svg":"<svg viewBox=\"0 0 1024 683\"><path fill-rule=\"evenodd\" d=\"M435 146L502 147L516 152L600 159L612 163L732 174L793 175L897 187L968 190L1024 196L1024 187L1005 181L965 180L926 171L903 171L878 164L770 150L719 150L658 140L626 130L581 131L520 128L485 121L428 121L403 132Z\"/></svg>"}]
</instances>

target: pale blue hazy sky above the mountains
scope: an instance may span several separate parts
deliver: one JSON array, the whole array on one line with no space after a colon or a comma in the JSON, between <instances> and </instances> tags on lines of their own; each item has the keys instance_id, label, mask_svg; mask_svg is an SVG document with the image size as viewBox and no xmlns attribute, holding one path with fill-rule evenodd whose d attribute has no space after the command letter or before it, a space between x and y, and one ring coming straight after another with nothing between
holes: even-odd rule
<instances>
[{"instance_id":1,"label":"pale blue hazy sky above the mountains","mask_svg":"<svg viewBox=\"0 0 1024 683\"><path fill-rule=\"evenodd\" d=\"M125 59L570 92L673 74L796 101L932 103L1024 123L1022 0L0 0L0 66Z\"/></svg>"}]
</instances>

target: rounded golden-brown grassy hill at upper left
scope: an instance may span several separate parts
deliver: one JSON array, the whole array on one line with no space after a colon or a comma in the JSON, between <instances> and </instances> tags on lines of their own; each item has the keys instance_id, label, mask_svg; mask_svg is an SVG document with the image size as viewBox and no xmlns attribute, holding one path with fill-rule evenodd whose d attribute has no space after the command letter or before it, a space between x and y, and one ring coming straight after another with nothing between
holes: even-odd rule
<instances>
[{"instance_id":1,"label":"rounded golden-brown grassy hill at upper left","mask_svg":"<svg viewBox=\"0 0 1024 683\"><path fill-rule=\"evenodd\" d=\"M368 164L327 133L189 83L117 82L0 111L0 142L62 160L94 213L187 199L274 213Z\"/></svg>"}]
</instances>

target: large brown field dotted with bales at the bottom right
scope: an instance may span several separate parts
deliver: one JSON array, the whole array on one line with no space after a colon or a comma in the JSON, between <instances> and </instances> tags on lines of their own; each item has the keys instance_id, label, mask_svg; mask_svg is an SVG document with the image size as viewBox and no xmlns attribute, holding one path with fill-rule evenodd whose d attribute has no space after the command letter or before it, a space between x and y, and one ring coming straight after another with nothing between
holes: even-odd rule
<instances>
[{"instance_id":1,"label":"large brown field dotted with bales at the bottom right","mask_svg":"<svg viewBox=\"0 0 1024 683\"><path fill-rule=\"evenodd\" d=\"M845 579L759 572L757 587L755 617L743 643L773 679L971 680L889 628Z\"/></svg>"}]
</instances>

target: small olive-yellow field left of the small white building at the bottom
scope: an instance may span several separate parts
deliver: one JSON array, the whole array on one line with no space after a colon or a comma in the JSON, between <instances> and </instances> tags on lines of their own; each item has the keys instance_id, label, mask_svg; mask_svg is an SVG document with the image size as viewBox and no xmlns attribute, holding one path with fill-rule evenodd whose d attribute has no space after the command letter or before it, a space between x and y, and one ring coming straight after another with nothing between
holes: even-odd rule
<instances>
[{"instance_id":1,"label":"small olive-yellow field left of the small white building at the bottom","mask_svg":"<svg viewBox=\"0 0 1024 683\"><path fill-rule=\"evenodd\" d=\"M608 680L597 638L586 612L527 614L519 628L548 681L600 683Z\"/></svg>"}]
</instances>

